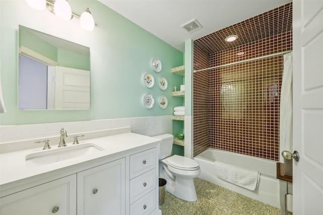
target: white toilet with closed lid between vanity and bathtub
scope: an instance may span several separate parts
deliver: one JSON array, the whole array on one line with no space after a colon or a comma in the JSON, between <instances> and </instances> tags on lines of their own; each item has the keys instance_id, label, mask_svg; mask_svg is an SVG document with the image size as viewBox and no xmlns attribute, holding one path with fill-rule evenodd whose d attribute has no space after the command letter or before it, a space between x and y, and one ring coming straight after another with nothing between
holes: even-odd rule
<instances>
[{"instance_id":1,"label":"white toilet with closed lid between vanity and bathtub","mask_svg":"<svg viewBox=\"0 0 323 215\"><path fill-rule=\"evenodd\" d=\"M196 201L197 195L193 178L200 173L196 161L173 155L173 138L169 133L153 136L163 141L159 144L159 176L167 179L166 191L186 201Z\"/></svg>"}]
</instances>

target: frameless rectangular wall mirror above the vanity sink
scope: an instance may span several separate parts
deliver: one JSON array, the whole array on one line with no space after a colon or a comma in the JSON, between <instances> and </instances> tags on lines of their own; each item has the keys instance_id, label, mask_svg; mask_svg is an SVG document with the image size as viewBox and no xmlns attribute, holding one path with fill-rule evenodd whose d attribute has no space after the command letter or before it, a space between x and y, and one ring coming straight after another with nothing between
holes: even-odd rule
<instances>
[{"instance_id":1,"label":"frameless rectangular wall mirror above the vanity sink","mask_svg":"<svg viewBox=\"0 0 323 215\"><path fill-rule=\"evenodd\" d=\"M18 109L90 109L90 48L19 26Z\"/></svg>"}]
</instances>

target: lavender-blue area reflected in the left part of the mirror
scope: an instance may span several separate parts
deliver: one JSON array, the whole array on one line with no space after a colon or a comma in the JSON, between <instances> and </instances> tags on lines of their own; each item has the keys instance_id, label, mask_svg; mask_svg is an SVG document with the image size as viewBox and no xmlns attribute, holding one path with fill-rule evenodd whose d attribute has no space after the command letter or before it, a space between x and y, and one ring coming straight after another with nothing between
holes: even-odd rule
<instances>
[{"instance_id":1,"label":"lavender-blue area reflected in the left part of the mirror","mask_svg":"<svg viewBox=\"0 0 323 215\"><path fill-rule=\"evenodd\" d=\"M19 110L47 109L47 65L19 56Z\"/></svg>"}]
</instances>

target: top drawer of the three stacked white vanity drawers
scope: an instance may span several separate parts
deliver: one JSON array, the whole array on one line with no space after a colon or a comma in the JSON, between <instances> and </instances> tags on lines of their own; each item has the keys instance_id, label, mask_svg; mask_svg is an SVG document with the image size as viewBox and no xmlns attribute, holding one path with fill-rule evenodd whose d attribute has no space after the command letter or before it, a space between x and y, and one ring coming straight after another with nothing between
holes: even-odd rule
<instances>
[{"instance_id":1,"label":"top drawer of the three stacked white vanity drawers","mask_svg":"<svg viewBox=\"0 0 323 215\"><path fill-rule=\"evenodd\" d=\"M130 156L130 179L156 167L156 148Z\"/></svg>"}]
</instances>

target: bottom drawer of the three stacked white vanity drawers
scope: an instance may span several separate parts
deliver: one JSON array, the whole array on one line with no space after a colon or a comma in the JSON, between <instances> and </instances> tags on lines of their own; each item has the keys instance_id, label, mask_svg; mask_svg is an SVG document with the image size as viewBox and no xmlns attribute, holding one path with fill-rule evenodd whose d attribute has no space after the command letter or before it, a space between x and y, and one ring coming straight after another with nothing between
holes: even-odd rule
<instances>
[{"instance_id":1,"label":"bottom drawer of the three stacked white vanity drawers","mask_svg":"<svg viewBox=\"0 0 323 215\"><path fill-rule=\"evenodd\" d=\"M130 214L148 214L156 208L156 190L149 192L130 205Z\"/></svg>"}]
</instances>

